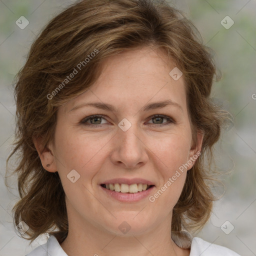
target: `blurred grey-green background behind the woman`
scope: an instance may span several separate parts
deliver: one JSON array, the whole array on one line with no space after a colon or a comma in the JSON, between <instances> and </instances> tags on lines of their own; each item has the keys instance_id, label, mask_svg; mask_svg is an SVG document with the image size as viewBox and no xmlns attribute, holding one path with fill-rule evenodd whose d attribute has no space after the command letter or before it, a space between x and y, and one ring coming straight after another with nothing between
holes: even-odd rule
<instances>
[{"instance_id":1,"label":"blurred grey-green background behind the woman","mask_svg":"<svg viewBox=\"0 0 256 256\"><path fill-rule=\"evenodd\" d=\"M0 0L0 256L25 255L45 242L29 245L14 231L11 208L18 199L15 177L4 185L5 161L14 136L13 78L25 62L29 47L42 27L70 0ZM256 255L256 0L175 0L214 50L222 72L212 96L233 118L216 145L216 164L225 184L207 225L196 234L241 255ZM15 22L24 16L29 24ZM228 16L228 17L227 17ZM25 20L24 20L25 21ZM22 22L23 25L25 22ZM223 189L222 189L223 190Z\"/></svg>"}]
</instances>

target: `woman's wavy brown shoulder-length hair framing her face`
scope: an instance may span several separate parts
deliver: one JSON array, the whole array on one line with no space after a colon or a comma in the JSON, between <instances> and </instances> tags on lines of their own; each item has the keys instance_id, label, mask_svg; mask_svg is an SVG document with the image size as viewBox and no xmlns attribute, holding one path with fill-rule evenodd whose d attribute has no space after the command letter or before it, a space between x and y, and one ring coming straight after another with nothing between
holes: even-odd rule
<instances>
[{"instance_id":1,"label":"woman's wavy brown shoulder-length hair framing her face","mask_svg":"<svg viewBox=\"0 0 256 256\"><path fill-rule=\"evenodd\" d=\"M194 232L208 220L216 199L209 186L212 146L224 120L223 111L210 98L216 68L209 48L185 15L166 1L81 0L46 25L16 75L16 140L6 162L19 152L13 174L21 198L13 207L14 224L22 220L29 226L26 239L48 233L61 243L68 232L59 175L42 167L32 137L40 137L47 146L54 138L58 107L96 81L106 57L138 46L163 49L183 72L193 141L198 130L204 133L201 155L187 172L173 208L171 230ZM95 50L97 54L85 64ZM79 74L61 86L81 61ZM61 89L56 91L57 87Z\"/></svg>"}]
</instances>

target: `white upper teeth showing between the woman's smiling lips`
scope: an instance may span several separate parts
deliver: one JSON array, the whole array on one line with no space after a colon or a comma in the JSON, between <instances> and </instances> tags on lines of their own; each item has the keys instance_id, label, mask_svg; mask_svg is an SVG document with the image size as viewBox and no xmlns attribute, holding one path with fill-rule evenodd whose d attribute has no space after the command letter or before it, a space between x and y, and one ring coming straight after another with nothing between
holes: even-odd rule
<instances>
[{"instance_id":1,"label":"white upper teeth showing between the woman's smiling lips","mask_svg":"<svg viewBox=\"0 0 256 256\"><path fill-rule=\"evenodd\" d=\"M154 185L147 185L147 184L119 184L119 183L114 183L114 184L100 184L102 187L115 191L115 192L120 192L120 193L137 193L141 191L145 191L148 188L154 186Z\"/></svg>"}]
</instances>

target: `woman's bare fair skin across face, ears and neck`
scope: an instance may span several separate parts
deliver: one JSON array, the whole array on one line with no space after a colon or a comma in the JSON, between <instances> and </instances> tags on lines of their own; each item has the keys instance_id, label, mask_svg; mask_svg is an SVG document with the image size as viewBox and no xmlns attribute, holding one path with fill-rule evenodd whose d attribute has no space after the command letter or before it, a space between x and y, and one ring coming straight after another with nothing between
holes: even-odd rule
<instances>
[{"instance_id":1,"label":"woman's bare fair skin across face, ears and neck","mask_svg":"<svg viewBox=\"0 0 256 256\"><path fill-rule=\"evenodd\" d=\"M170 238L172 208L186 170L154 202L148 197L120 202L100 187L111 178L144 178L154 183L153 195L200 151L202 135L197 134L194 145L183 77L172 79L173 67L162 51L149 47L106 59L98 80L58 109L54 141L40 150L34 140L43 167L58 171L66 194L69 231L61 247L69 256L189 255L189 249L179 248ZM147 103L166 99L181 109L167 105L141 111ZM116 112L92 106L71 110L85 102L109 103ZM81 123L92 114L104 117L96 124L94 118L87 120L91 126ZM167 115L175 122L157 120L151 117L154 114ZM118 127L123 118L131 123L125 132ZM67 178L72 169L80 174L74 183ZM131 227L125 234L118 228L123 221Z\"/></svg>"}]
</instances>

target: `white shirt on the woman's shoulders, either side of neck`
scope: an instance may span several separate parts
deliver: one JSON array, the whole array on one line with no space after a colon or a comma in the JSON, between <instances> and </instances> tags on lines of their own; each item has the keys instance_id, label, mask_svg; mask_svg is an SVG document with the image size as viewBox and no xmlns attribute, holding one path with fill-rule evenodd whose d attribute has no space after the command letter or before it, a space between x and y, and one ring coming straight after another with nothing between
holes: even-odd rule
<instances>
[{"instance_id":1,"label":"white shirt on the woman's shoulders, either side of neck","mask_svg":"<svg viewBox=\"0 0 256 256\"><path fill-rule=\"evenodd\" d=\"M55 236L50 235L47 242L36 247L25 256L67 256ZM193 237L189 256L240 256L234 251Z\"/></svg>"}]
</instances>

